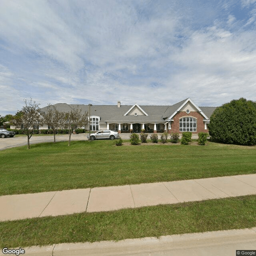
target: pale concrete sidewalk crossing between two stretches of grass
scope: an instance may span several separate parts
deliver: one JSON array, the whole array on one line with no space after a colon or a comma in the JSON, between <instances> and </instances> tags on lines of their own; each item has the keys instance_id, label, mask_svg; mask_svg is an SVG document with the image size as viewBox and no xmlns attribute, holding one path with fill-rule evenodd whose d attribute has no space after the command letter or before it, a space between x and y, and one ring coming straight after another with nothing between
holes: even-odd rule
<instances>
[{"instance_id":1,"label":"pale concrete sidewalk crossing between two stretches of grass","mask_svg":"<svg viewBox=\"0 0 256 256\"><path fill-rule=\"evenodd\" d=\"M256 194L256 174L0 196L0 221Z\"/></svg>"}]
</instances>

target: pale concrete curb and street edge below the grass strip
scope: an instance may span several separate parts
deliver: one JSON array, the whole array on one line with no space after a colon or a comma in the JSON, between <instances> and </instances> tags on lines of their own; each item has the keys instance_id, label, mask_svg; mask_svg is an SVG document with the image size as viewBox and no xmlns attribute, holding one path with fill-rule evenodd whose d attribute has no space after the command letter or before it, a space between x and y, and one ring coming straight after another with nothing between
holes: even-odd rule
<instances>
[{"instance_id":1,"label":"pale concrete curb and street edge below the grass strip","mask_svg":"<svg viewBox=\"0 0 256 256\"><path fill-rule=\"evenodd\" d=\"M26 256L235 256L236 250L256 250L256 227L22 249Z\"/></svg>"}]
</instances>

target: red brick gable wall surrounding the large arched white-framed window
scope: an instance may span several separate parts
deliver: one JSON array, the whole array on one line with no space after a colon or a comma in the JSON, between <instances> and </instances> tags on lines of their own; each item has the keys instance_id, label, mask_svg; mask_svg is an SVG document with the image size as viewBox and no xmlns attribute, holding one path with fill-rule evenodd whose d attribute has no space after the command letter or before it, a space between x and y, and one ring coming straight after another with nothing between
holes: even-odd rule
<instances>
[{"instance_id":1,"label":"red brick gable wall surrounding the large arched white-framed window","mask_svg":"<svg viewBox=\"0 0 256 256\"><path fill-rule=\"evenodd\" d=\"M204 130L204 117L198 113L198 112L190 112L189 114L187 114L186 112L178 112L174 117L173 120L171 122L171 127L172 129L169 130L169 133L171 132L180 132L180 118L182 117L193 117L196 118L196 132L192 132L192 133L198 133L198 132L208 132L208 130Z\"/></svg>"}]
</instances>

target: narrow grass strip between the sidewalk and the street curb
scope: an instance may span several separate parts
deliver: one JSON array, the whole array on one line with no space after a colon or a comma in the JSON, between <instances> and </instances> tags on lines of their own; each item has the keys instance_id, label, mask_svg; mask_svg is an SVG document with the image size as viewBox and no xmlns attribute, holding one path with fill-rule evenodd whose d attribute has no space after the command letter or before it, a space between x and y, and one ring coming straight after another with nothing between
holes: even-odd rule
<instances>
[{"instance_id":1,"label":"narrow grass strip between the sidewalk and the street curb","mask_svg":"<svg viewBox=\"0 0 256 256\"><path fill-rule=\"evenodd\" d=\"M0 222L0 248L256 226L256 196Z\"/></svg>"}]
</instances>

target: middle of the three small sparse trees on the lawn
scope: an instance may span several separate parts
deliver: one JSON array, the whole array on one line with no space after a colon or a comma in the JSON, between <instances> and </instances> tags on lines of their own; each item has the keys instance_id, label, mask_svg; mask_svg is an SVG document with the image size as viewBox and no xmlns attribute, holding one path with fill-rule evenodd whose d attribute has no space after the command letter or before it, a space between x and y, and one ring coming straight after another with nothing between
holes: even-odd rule
<instances>
[{"instance_id":1,"label":"middle of the three small sparse trees on the lawn","mask_svg":"<svg viewBox=\"0 0 256 256\"><path fill-rule=\"evenodd\" d=\"M55 106L48 105L47 111L42 113L44 123L51 127L53 131L53 142L55 143L55 135L57 130L63 128L65 123L65 112L58 111Z\"/></svg>"}]
</instances>

